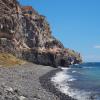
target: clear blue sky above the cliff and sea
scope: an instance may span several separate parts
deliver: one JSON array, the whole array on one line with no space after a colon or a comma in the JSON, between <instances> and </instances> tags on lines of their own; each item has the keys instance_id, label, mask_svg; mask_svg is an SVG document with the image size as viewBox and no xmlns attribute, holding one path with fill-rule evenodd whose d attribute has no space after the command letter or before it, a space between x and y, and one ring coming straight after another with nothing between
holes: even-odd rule
<instances>
[{"instance_id":1,"label":"clear blue sky above the cliff and sea","mask_svg":"<svg viewBox=\"0 0 100 100\"><path fill-rule=\"evenodd\" d=\"M100 61L100 0L19 0L46 16L53 35L84 61Z\"/></svg>"}]
</instances>

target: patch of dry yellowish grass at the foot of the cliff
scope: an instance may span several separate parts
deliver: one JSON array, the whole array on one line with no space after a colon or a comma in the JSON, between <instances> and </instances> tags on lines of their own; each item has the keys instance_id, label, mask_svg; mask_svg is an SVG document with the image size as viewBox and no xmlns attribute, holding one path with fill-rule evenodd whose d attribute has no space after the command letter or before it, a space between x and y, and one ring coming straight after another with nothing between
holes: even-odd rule
<instances>
[{"instance_id":1,"label":"patch of dry yellowish grass at the foot of the cliff","mask_svg":"<svg viewBox=\"0 0 100 100\"><path fill-rule=\"evenodd\" d=\"M12 67L14 65L25 64L25 61L16 58L8 53L0 53L0 65L5 67Z\"/></svg>"}]
</instances>

